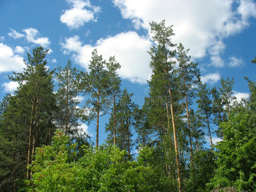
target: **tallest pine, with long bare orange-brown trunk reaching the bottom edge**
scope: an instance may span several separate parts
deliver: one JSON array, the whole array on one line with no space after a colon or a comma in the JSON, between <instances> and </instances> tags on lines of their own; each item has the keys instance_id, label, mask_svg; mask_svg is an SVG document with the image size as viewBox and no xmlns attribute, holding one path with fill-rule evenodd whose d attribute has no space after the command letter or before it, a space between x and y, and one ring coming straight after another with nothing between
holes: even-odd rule
<instances>
[{"instance_id":1,"label":"tallest pine, with long bare orange-brown trunk reaching the bottom edge","mask_svg":"<svg viewBox=\"0 0 256 192\"><path fill-rule=\"evenodd\" d=\"M173 128L173 138L175 145L175 159L177 165L177 180L178 180L178 188L181 191L181 180L180 180L180 163L179 163L179 144L177 140L177 124L175 123L175 111L174 111L174 100L172 90L172 83L175 82L175 61L173 58L175 57L175 51L172 51L175 44L172 43L172 36L174 35L172 26L166 27L165 20L157 24L157 22L150 23L151 32L153 33L153 40L158 44L157 47L150 48L148 53L151 56L150 67L153 68L153 73L156 74L158 71L159 81L163 82L162 86L164 86L168 92L168 100L170 100L170 115L172 117L172 128ZM160 80L163 79L163 80ZM167 101L167 98L166 98ZM166 111L169 122L169 102L166 102ZM168 125L170 127L170 124ZM169 128L170 129L170 128Z\"/></svg>"}]
</instances>

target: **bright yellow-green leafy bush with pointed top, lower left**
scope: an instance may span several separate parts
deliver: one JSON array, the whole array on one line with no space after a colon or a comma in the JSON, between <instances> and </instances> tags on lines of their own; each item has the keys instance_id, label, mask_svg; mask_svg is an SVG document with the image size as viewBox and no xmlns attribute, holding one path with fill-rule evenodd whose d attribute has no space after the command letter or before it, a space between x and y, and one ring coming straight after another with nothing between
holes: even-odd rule
<instances>
[{"instance_id":1,"label":"bright yellow-green leafy bush with pointed top, lower left","mask_svg":"<svg viewBox=\"0 0 256 192\"><path fill-rule=\"evenodd\" d=\"M68 145L68 141L68 136L58 131L51 146L36 149L28 191L83 191L84 169L79 163L68 163L76 154L76 144Z\"/></svg>"}]
</instances>

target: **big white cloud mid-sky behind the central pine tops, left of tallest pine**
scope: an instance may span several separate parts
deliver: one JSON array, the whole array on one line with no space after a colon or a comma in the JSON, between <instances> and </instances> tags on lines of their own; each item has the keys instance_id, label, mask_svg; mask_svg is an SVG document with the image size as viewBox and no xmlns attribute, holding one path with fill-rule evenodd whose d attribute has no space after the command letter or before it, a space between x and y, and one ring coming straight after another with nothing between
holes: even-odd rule
<instances>
[{"instance_id":1,"label":"big white cloud mid-sky behind the central pine tops, left of tallest pine","mask_svg":"<svg viewBox=\"0 0 256 192\"><path fill-rule=\"evenodd\" d=\"M73 59L88 70L93 49L97 48L98 54L102 54L105 60L109 56L115 56L116 61L122 66L118 70L120 77L129 79L132 83L147 83L152 70L149 68L150 56L147 53L152 42L137 33L129 31L116 36L101 38L95 46L83 45L79 36L66 38L61 44L63 52L74 52Z\"/></svg>"}]
</instances>

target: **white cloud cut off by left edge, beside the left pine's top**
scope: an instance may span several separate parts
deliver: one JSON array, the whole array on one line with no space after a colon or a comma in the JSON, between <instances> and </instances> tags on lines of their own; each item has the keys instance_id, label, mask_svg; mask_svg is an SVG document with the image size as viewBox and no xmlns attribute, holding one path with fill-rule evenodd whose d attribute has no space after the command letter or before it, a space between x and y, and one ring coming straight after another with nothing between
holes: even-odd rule
<instances>
[{"instance_id":1,"label":"white cloud cut off by left edge, beside the left pine's top","mask_svg":"<svg viewBox=\"0 0 256 192\"><path fill-rule=\"evenodd\" d=\"M11 47L0 43L0 72L21 72L26 67L23 58Z\"/></svg>"}]
</instances>

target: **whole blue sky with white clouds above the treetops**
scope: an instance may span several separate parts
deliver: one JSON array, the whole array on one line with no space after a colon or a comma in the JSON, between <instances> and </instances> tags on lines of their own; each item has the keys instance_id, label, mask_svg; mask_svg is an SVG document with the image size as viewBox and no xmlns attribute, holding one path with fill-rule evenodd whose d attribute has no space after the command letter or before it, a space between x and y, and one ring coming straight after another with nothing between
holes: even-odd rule
<instances>
[{"instance_id":1,"label":"whole blue sky with white clouds above the treetops","mask_svg":"<svg viewBox=\"0 0 256 192\"><path fill-rule=\"evenodd\" d=\"M106 60L115 55L122 86L141 104L151 74L148 23L163 19L173 25L173 42L199 63L204 83L218 86L221 77L234 77L237 99L248 97L243 77L255 81L256 56L256 2L250 0L1 0L0 97L17 86L7 76L22 72L26 53L42 45L50 49L51 69L70 60L85 71L95 48ZM95 125L83 127L95 140Z\"/></svg>"}]
</instances>

